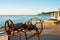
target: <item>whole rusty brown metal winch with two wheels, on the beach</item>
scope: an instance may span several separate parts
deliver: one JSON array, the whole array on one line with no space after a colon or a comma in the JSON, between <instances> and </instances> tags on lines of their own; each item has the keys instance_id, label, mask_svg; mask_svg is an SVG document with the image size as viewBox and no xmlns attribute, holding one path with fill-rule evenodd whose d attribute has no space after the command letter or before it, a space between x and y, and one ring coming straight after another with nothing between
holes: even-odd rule
<instances>
[{"instance_id":1,"label":"whole rusty brown metal winch with two wheels, on the beach","mask_svg":"<svg viewBox=\"0 0 60 40\"><path fill-rule=\"evenodd\" d=\"M35 30L36 33L27 37L27 32L29 31L30 33L32 33L31 32L32 30ZM8 35L8 40L10 40L10 38L15 34L15 32L19 34L20 32L23 32L25 34L25 40L28 40L34 36L36 36L36 40L40 40L39 35L43 31L43 23L39 18L31 18L25 23L16 23L16 24L14 24L12 20L6 20L5 31Z\"/></svg>"}]
</instances>

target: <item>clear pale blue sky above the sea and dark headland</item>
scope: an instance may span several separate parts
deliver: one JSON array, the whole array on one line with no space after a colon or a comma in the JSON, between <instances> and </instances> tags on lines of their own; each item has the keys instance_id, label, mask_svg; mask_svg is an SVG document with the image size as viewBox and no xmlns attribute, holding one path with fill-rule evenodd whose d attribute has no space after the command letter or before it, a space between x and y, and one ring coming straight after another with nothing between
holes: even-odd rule
<instances>
[{"instance_id":1,"label":"clear pale blue sky above the sea and dark headland","mask_svg":"<svg viewBox=\"0 0 60 40\"><path fill-rule=\"evenodd\" d=\"M60 0L0 0L0 15L36 15L60 8Z\"/></svg>"}]
</instances>

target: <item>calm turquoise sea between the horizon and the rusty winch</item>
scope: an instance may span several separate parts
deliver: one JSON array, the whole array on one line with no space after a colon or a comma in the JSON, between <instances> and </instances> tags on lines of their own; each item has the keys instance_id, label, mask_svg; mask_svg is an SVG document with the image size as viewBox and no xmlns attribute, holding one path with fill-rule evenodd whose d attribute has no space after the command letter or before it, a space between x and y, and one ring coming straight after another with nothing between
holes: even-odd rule
<instances>
[{"instance_id":1,"label":"calm turquoise sea between the horizon and the rusty winch","mask_svg":"<svg viewBox=\"0 0 60 40\"><path fill-rule=\"evenodd\" d=\"M45 19L51 19L48 15L0 15L0 27L4 26L6 20L10 19L13 23L26 22L30 18L37 17L44 21Z\"/></svg>"}]
</instances>

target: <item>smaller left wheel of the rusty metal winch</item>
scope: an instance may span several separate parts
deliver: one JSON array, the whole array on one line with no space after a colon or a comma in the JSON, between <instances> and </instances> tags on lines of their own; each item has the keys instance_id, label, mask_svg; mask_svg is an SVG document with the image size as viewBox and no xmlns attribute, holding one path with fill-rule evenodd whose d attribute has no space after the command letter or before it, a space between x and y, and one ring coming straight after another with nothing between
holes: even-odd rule
<instances>
[{"instance_id":1,"label":"smaller left wheel of the rusty metal winch","mask_svg":"<svg viewBox=\"0 0 60 40\"><path fill-rule=\"evenodd\" d=\"M8 29L7 29L8 27ZM11 20L5 21L5 31L8 35L11 35L11 31L14 29L14 23Z\"/></svg>"}]
</instances>

